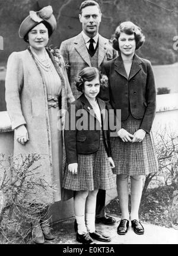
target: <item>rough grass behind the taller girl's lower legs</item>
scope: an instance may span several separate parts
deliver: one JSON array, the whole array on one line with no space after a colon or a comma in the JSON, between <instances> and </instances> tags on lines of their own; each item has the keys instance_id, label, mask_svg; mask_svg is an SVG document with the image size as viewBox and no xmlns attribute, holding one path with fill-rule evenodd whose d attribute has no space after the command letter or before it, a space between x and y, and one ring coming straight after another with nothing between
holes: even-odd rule
<instances>
[{"instance_id":1,"label":"rough grass behind the taller girl's lower legs","mask_svg":"<svg viewBox=\"0 0 178 256\"><path fill-rule=\"evenodd\" d=\"M178 229L178 204L173 204L174 190L172 186L147 189L139 208L140 220L145 223ZM129 208L131 208L130 200ZM118 197L108 204L106 211L121 216Z\"/></svg>"}]
</instances>

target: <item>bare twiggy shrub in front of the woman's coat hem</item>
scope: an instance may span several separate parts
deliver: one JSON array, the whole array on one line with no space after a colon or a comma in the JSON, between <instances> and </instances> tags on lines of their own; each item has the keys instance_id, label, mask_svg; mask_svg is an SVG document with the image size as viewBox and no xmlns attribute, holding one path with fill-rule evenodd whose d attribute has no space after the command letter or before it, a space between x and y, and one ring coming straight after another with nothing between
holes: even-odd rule
<instances>
[{"instance_id":1,"label":"bare twiggy shrub in front of the woman's coat hem","mask_svg":"<svg viewBox=\"0 0 178 256\"><path fill-rule=\"evenodd\" d=\"M41 158L39 154L28 154L7 159L0 154L0 244L26 243L31 223L39 221L50 206L29 200L29 194L37 193L34 188L52 190L39 176L39 166L33 167Z\"/></svg>"}]
</instances>

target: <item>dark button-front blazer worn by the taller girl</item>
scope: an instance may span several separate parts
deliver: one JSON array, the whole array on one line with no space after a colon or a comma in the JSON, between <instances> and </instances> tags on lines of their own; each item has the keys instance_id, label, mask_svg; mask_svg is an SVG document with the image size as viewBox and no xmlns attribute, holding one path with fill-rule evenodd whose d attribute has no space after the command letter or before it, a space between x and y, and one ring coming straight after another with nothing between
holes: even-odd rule
<instances>
[{"instance_id":1,"label":"dark button-front blazer worn by the taller girl","mask_svg":"<svg viewBox=\"0 0 178 256\"><path fill-rule=\"evenodd\" d=\"M129 116L142 119L140 129L150 133L155 116L156 90L150 61L134 55L129 78L122 56L105 62L103 74L109 78L109 87L100 91L103 100L109 100L113 109L121 109L121 120Z\"/></svg>"}]
</instances>

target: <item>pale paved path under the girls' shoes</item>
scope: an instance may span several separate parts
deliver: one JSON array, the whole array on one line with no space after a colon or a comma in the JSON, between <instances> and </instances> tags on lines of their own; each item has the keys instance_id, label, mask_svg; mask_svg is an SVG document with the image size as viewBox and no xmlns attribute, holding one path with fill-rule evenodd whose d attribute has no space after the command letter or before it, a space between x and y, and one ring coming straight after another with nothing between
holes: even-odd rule
<instances>
[{"instance_id":1,"label":"pale paved path under the girls' shoes","mask_svg":"<svg viewBox=\"0 0 178 256\"><path fill-rule=\"evenodd\" d=\"M117 221L120 220L118 216L113 216ZM99 242L97 244L178 244L178 230L173 228L166 228L148 223L142 223L145 229L144 235L136 235L129 222L129 229L126 235L117 234L117 226L96 224L96 229L105 233L112 238L111 242ZM45 244L79 244L76 241L76 234L74 231L74 218L53 224L53 233L56 239L53 241L46 241Z\"/></svg>"}]
</instances>

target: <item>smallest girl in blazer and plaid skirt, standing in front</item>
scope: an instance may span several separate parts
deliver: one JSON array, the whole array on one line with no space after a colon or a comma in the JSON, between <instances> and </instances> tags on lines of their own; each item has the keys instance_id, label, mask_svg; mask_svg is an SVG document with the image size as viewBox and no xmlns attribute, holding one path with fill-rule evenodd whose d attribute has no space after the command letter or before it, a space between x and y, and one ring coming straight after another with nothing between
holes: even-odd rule
<instances>
[{"instance_id":1,"label":"smallest girl in blazer and plaid skirt, standing in front","mask_svg":"<svg viewBox=\"0 0 178 256\"><path fill-rule=\"evenodd\" d=\"M108 129L109 105L97 98L100 86L107 77L97 68L82 69L76 79L81 96L68 109L69 125L65 126L67 165L63 175L63 188L75 191L74 211L77 241L94 243L93 239L109 242L109 236L95 229L96 197L98 189L116 187L112 168L115 167L110 154ZM106 111L106 112L105 112Z\"/></svg>"}]
</instances>

